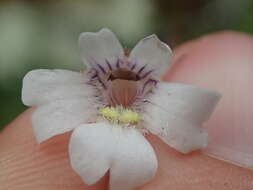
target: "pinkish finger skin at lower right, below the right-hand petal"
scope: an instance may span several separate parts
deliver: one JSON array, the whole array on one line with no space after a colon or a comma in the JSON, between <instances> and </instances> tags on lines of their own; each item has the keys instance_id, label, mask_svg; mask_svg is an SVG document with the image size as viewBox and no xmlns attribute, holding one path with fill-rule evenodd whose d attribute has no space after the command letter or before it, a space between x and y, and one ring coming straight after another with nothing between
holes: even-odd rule
<instances>
[{"instance_id":1,"label":"pinkish finger skin at lower right, below the right-hand petal","mask_svg":"<svg viewBox=\"0 0 253 190\"><path fill-rule=\"evenodd\" d=\"M251 189L253 175L250 170L208 157L194 151L182 154L150 135L148 140L158 158L155 178L141 189ZM239 177L240 176L240 177Z\"/></svg>"}]
</instances>

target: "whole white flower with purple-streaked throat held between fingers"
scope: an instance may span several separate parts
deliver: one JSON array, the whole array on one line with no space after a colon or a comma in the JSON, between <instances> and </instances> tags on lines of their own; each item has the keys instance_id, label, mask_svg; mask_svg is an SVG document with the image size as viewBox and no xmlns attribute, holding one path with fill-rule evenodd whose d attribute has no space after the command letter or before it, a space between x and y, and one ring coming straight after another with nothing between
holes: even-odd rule
<instances>
[{"instance_id":1,"label":"whole white flower with purple-streaked throat held between fingers","mask_svg":"<svg viewBox=\"0 0 253 190\"><path fill-rule=\"evenodd\" d=\"M220 95L160 81L171 50L155 35L129 55L109 29L82 33L79 45L86 72L30 71L22 100L37 106L32 123L39 143L73 130L70 162L85 183L96 183L108 170L111 190L152 179L158 163L147 132L182 153L207 145L201 126Z\"/></svg>"}]
</instances>

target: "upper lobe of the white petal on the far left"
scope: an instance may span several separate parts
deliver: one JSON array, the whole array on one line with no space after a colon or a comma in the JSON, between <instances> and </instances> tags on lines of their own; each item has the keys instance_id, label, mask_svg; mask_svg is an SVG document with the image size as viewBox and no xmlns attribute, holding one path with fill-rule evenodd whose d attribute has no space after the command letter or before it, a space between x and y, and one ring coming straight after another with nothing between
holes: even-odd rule
<instances>
[{"instance_id":1,"label":"upper lobe of the white petal on the far left","mask_svg":"<svg viewBox=\"0 0 253 190\"><path fill-rule=\"evenodd\" d=\"M33 70L23 79L22 101L25 105L41 105L54 100L93 97L94 90L86 78L68 70Z\"/></svg>"}]
</instances>

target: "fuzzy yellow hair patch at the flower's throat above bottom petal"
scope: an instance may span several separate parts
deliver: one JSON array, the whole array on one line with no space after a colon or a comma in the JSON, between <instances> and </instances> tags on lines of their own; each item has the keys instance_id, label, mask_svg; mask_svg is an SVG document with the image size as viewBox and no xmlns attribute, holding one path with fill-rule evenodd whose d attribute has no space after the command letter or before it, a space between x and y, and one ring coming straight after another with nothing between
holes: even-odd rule
<instances>
[{"instance_id":1,"label":"fuzzy yellow hair patch at the flower's throat above bottom petal","mask_svg":"<svg viewBox=\"0 0 253 190\"><path fill-rule=\"evenodd\" d=\"M105 107L99 110L99 113L106 119L123 123L123 124L135 124L140 121L140 115L130 109L123 107Z\"/></svg>"}]
</instances>

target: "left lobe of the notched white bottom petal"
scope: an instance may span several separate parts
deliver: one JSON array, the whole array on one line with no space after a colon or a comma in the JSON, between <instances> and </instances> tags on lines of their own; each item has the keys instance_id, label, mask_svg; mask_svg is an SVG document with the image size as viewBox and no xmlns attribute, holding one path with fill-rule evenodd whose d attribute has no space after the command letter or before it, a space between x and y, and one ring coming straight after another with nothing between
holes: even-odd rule
<instances>
[{"instance_id":1,"label":"left lobe of the notched white bottom petal","mask_svg":"<svg viewBox=\"0 0 253 190\"><path fill-rule=\"evenodd\" d=\"M83 124L71 135L71 166L88 185L96 183L110 168L115 142L108 129L102 123Z\"/></svg>"}]
</instances>

